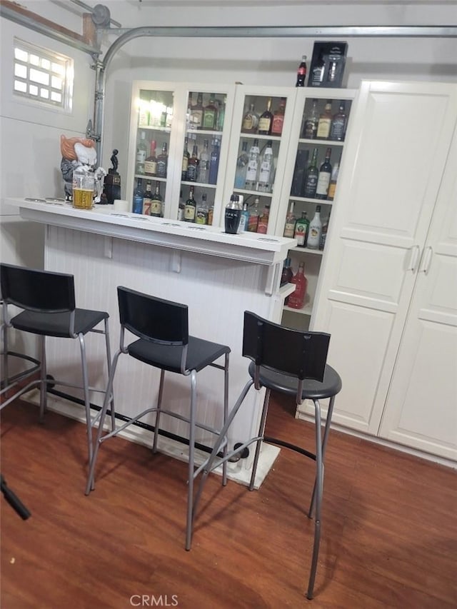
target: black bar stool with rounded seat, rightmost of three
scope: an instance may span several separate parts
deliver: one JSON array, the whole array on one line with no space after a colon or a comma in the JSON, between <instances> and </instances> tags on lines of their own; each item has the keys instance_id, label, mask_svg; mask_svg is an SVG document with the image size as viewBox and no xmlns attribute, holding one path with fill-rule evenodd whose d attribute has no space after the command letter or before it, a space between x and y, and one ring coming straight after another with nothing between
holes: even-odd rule
<instances>
[{"instance_id":1,"label":"black bar stool with rounded seat, rightmost of three","mask_svg":"<svg viewBox=\"0 0 457 609\"><path fill-rule=\"evenodd\" d=\"M201 497L204 483L209 473L219 467L224 460L231 459L241 453L247 446L256 443L256 453L253 460L251 482L249 490L253 489L256 478L258 458L261 451L262 441L275 443L285 448L315 460L316 478L314 481L311 504L308 510L308 518L314 514L314 543L313 555L311 559L311 570L308 580L307 598L313 598L314 581L316 579L316 569L321 540L321 506L323 494L323 460L330 431L331 416L335 396L341 391L341 378L338 373L326 363L328 344L330 335L322 332L300 332L279 326L277 323L267 321L255 313L245 311L244 330L243 330L243 356L251 359L248 366L248 373L251 378L241 391L241 395L229 413L226 424L221 430L219 443L222 443L226 433L231 426L233 418L236 416L241 404L246 398L251 386L257 390L266 388L263 409L261 413L258 436L249 439L241 446L224 456L219 456L219 443L216 442L214 450L209 460L205 464L204 473L201 476L199 488L196 492L194 513ZM287 395L296 396L296 403L301 404L303 400L310 400L314 406L316 447L315 453L306 451L299 446L277 440L276 438L266 438L263 436L265 430L266 416L268 413L268 402L271 391L279 391ZM320 400L330 398L326 423L321 426L321 405Z\"/></svg>"}]
</instances>

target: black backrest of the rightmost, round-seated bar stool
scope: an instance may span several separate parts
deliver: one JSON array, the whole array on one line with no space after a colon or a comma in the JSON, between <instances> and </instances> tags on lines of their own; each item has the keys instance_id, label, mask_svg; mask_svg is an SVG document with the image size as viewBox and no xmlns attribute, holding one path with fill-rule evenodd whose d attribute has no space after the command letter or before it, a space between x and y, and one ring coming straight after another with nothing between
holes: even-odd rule
<instances>
[{"instance_id":1,"label":"black backrest of the rightmost, round-seated bar stool","mask_svg":"<svg viewBox=\"0 0 457 609\"><path fill-rule=\"evenodd\" d=\"M329 342L330 334L293 330L244 312L243 356L256 364L257 371L264 366L299 381L322 382Z\"/></svg>"}]
</instances>

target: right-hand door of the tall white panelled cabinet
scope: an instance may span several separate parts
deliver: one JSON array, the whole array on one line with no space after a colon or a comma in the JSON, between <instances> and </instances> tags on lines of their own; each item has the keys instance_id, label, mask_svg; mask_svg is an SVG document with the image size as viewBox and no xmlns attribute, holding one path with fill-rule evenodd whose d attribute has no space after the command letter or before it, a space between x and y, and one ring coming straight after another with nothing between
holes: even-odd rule
<instances>
[{"instance_id":1,"label":"right-hand door of the tall white panelled cabinet","mask_svg":"<svg viewBox=\"0 0 457 609\"><path fill-rule=\"evenodd\" d=\"M457 134L423 250L380 436L457 460Z\"/></svg>"}]
</instances>

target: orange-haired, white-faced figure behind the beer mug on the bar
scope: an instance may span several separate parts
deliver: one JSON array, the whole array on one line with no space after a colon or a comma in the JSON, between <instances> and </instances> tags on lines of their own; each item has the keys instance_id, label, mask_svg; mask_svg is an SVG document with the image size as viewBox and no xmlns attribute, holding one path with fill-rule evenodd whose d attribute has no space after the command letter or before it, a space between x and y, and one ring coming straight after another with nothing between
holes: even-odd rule
<instances>
[{"instance_id":1,"label":"orange-haired, white-faced figure behind the beer mug on the bar","mask_svg":"<svg viewBox=\"0 0 457 609\"><path fill-rule=\"evenodd\" d=\"M95 168L97 153L94 140L87 138L66 138L60 136L60 150L62 160L60 169L64 178L65 198L72 201L73 198L73 172L75 170L84 173L94 173L96 183L96 196L94 203L100 203L103 197L104 177L106 171L103 167Z\"/></svg>"}]
</instances>

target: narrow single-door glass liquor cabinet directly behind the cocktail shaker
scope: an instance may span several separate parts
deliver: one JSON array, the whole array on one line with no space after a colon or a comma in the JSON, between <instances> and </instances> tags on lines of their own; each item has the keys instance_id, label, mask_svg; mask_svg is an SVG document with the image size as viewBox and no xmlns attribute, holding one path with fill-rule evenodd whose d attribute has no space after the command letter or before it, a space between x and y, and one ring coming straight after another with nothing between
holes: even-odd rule
<instances>
[{"instance_id":1,"label":"narrow single-door glass liquor cabinet directly behind the cocktail shaker","mask_svg":"<svg viewBox=\"0 0 457 609\"><path fill-rule=\"evenodd\" d=\"M275 233L295 99L290 87L236 87L224 201L238 195L249 231Z\"/></svg>"}]
</instances>

